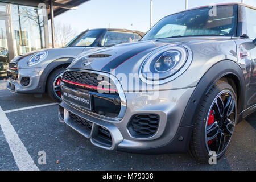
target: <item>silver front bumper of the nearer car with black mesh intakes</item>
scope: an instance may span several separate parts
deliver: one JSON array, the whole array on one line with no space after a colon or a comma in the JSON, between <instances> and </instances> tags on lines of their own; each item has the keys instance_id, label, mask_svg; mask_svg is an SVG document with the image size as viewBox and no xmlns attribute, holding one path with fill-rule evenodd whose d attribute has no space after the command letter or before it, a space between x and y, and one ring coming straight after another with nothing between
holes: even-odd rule
<instances>
[{"instance_id":1,"label":"silver front bumper of the nearer car with black mesh intakes","mask_svg":"<svg viewBox=\"0 0 256 182\"><path fill-rule=\"evenodd\" d=\"M158 91L157 98L152 98L147 92L125 93L126 111L119 121L81 111L63 101L59 107L59 118L61 122L67 123L89 138L92 144L107 150L117 149L137 153L185 152L190 141L192 126L180 127L180 121L194 89L195 87ZM82 127L72 121L69 113L91 122L92 130L85 133ZM145 113L159 115L158 130L152 137L133 137L127 129L129 121L133 115ZM109 131L111 146L106 146L96 139L98 127L104 127Z\"/></svg>"}]
</instances>

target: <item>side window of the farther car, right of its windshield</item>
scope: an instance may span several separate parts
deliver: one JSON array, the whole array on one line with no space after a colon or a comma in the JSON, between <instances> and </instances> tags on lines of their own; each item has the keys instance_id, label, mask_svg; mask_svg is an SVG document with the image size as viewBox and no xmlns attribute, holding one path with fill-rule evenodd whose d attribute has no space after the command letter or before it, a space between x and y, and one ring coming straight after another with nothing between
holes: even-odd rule
<instances>
[{"instance_id":1,"label":"side window of the farther car, right of its windshield","mask_svg":"<svg viewBox=\"0 0 256 182\"><path fill-rule=\"evenodd\" d=\"M135 38L133 33L129 32L106 32L104 39L102 40L102 46L114 46L115 44L122 44L127 42L134 42Z\"/></svg>"}]
</instances>

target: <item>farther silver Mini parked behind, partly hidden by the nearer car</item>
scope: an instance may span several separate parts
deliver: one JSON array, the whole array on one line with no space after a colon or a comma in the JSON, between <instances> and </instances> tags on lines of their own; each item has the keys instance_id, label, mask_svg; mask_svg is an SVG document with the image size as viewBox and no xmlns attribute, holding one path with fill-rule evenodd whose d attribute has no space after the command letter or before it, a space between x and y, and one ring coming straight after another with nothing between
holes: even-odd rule
<instances>
[{"instance_id":1,"label":"farther silver Mini parked behind, partly hidden by the nearer car","mask_svg":"<svg viewBox=\"0 0 256 182\"><path fill-rule=\"evenodd\" d=\"M48 94L61 101L60 80L64 69L81 52L135 42L143 32L124 29L86 30L63 48L44 49L15 57L7 69L7 88L15 93ZM1 65L0 65L1 67Z\"/></svg>"}]
</instances>

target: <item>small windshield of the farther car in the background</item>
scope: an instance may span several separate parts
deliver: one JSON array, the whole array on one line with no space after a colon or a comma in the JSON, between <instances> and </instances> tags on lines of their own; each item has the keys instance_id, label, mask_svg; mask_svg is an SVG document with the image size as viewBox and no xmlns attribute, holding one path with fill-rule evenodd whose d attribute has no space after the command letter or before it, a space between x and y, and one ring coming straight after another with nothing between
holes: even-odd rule
<instances>
[{"instance_id":1,"label":"small windshield of the farther car in the background","mask_svg":"<svg viewBox=\"0 0 256 182\"><path fill-rule=\"evenodd\" d=\"M86 31L84 34L80 34L70 43L68 43L68 47L75 47L75 46L82 46L82 47L90 47L93 46L93 43L96 39L101 35L102 30L89 30ZM65 47L67 47L67 45Z\"/></svg>"}]
</instances>

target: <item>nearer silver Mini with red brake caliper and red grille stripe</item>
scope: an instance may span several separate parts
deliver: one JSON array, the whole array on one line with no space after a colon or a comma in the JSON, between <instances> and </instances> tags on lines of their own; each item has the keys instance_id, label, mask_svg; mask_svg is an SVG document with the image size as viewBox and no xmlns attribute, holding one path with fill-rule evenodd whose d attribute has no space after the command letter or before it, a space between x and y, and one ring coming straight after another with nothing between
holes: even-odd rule
<instances>
[{"instance_id":1,"label":"nearer silver Mini with red brake caliper and red grille stripe","mask_svg":"<svg viewBox=\"0 0 256 182\"><path fill-rule=\"evenodd\" d=\"M214 12L216 11L216 12ZM220 158L256 110L256 8L199 7L65 70L59 118L107 150Z\"/></svg>"}]
</instances>

